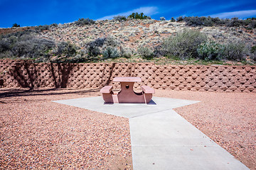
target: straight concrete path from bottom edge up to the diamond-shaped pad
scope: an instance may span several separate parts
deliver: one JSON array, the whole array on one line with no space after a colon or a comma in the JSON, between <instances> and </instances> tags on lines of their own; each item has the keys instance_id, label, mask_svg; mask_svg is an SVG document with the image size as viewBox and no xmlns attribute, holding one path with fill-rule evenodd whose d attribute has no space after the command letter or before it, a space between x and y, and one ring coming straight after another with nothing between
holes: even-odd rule
<instances>
[{"instance_id":1,"label":"straight concrete path from bottom edge up to the diamond-shaped pad","mask_svg":"<svg viewBox=\"0 0 256 170\"><path fill-rule=\"evenodd\" d=\"M134 169L247 169L173 110L129 124Z\"/></svg>"}]
</instances>

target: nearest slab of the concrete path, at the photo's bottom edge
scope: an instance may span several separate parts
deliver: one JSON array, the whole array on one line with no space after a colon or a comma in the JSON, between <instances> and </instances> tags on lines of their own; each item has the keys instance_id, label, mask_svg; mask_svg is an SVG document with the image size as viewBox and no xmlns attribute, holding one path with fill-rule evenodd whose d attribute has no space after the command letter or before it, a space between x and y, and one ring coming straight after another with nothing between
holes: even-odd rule
<instances>
[{"instance_id":1,"label":"nearest slab of the concrete path, at the photo's bottom edge","mask_svg":"<svg viewBox=\"0 0 256 170\"><path fill-rule=\"evenodd\" d=\"M132 146L134 169L247 169L221 147Z\"/></svg>"}]
</instances>

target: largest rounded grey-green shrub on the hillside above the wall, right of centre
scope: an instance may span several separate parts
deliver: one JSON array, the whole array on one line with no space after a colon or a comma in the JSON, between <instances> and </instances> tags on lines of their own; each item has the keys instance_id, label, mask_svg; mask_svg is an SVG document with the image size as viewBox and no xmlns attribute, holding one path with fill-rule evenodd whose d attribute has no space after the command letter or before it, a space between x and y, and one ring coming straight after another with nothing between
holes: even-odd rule
<instances>
[{"instance_id":1,"label":"largest rounded grey-green shrub on the hillside above the wall, right of centre","mask_svg":"<svg viewBox=\"0 0 256 170\"><path fill-rule=\"evenodd\" d=\"M198 45L206 42L206 39L206 35L198 30L183 30L176 36L166 38L162 44L162 51L168 57L178 57L181 60L198 58Z\"/></svg>"}]
</instances>

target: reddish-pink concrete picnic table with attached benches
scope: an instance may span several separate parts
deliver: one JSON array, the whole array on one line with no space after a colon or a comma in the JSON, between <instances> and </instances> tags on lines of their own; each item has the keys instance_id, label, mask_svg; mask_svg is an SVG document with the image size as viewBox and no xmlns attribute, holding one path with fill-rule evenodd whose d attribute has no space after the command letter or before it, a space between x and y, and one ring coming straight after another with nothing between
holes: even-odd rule
<instances>
[{"instance_id":1,"label":"reddish-pink concrete picnic table with attached benches","mask_svg":"<svg viewBox=\"0 0 256 170\"><path fill-rule=\"evenodd\" d=\"M140 77L114 77L113 81L121 84L121 91L114 93L113 86L104 86L100 93L105 103L149 103L154 94L154 89L149 86L141 86L139 93L133 90L134 83L142 81Z\"/></svg>"}]
</instances>

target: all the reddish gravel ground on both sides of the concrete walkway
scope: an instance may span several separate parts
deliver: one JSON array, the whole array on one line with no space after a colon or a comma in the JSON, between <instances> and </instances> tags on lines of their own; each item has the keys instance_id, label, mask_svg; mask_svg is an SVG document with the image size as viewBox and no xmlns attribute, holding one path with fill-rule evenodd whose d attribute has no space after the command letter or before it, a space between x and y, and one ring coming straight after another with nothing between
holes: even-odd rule
<instances>
[{"instance_id":1,"label":"all the reddish gravel ground on both sides of the concrete walkway","mask_svg":"<svg viewBox=\"0 0 256 170\"><path fill-rule=\"evenodd\" d=\"M51 101L98 89L0 89L0 169L132 169L129 120ZM156 90L201 101L175 111L256 169L256 94Z\"/></svg>"}]
</instances>

